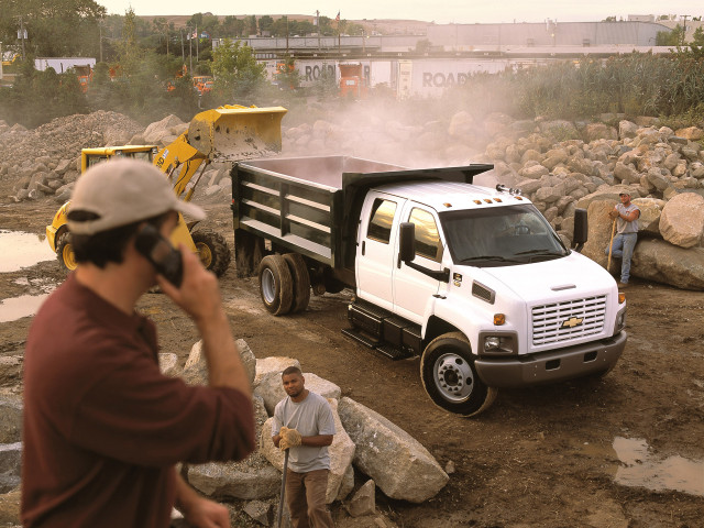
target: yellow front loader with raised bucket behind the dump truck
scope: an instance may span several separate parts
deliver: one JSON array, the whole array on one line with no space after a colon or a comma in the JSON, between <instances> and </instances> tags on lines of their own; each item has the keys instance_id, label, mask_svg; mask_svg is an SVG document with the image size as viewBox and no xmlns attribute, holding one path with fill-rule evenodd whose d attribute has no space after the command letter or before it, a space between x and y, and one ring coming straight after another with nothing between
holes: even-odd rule
<instances>
[{"instance_id":1,"label":"yellow front loader with raised bucket behind the dump truck","mask_svg":"<svg viewBox=\"0 0 704 528\"><path fill-rule=\"evenodd\" d=\"M152 162L165 173L176 196L190 201L206 167L213 161L237 162L266 157L282 148L282 107L256 108L230 106L200 112L190 121L188 131L157 152L154 145L108 146L84 148L80 153L81 173L96 163L117 157L138 157ZM76 260L70 245L66 215L70 201L64 204L51 226L46 227L46 240L59 264L70 271ZM206 268L221 276L228 268L231 252L226 240L212 230L194 228L198 222L186 223L179 215L172 243L183 243L197 252Z\"/></svg>"}]
</instances>

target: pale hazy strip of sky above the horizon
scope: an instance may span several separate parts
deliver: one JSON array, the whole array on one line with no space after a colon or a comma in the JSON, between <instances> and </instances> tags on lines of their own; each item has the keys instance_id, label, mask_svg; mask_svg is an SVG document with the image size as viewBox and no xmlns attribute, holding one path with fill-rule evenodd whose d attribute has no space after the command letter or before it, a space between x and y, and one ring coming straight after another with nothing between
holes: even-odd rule
<instances>
[{"instance_id":1,"label":"pale hazy strip of sky above the horizon","mask_svg":"<svg viewBox=\"0 0 704 528\"><path fill-rule=\"evenodd\" d=\"M702 0L258 0L233 2L231 0L96 0L108 13L124 14L132 6L138 15L168 15L207 13L226 14L320 14L334 19L407 19L436 23L491 23L491 22L595 22L606 16L628 14L704 14Z\"/></svg>"}]
</instances>

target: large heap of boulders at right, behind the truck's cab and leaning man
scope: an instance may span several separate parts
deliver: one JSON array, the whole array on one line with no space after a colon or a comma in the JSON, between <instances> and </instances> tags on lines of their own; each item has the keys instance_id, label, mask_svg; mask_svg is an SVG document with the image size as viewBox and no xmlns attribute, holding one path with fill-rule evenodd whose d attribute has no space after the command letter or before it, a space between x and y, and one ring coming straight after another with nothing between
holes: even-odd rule
<instances>
[{"instance_id":1,"label":"large heap of boulders at right, behind the truck's cab and leaning man","mask_svg":"<svg viewBox=\"0 0 704 528\"><path fill-rule=\"evenodd\" d=\"M526 136L499 133L485 154L498 178L514 182L565 243L572 240L574 209L587 209L590 242L583 252L604 266L612 232L607 212L618 193L628 190L641 209L631 274L704 289L704 131L637 121L622 120L618 130L604 123L579 130L566 121L538 122ZM612 266L618 273L619 262Z\"/></svg>"}]
</instances>

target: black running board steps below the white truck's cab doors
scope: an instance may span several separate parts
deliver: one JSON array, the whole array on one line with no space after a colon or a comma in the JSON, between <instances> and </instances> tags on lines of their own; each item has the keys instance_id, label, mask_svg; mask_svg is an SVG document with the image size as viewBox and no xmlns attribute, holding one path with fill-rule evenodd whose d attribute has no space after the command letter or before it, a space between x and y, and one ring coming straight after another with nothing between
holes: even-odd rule
<instances>
[{"instance_id":1,"label":"black running board steps below the white truck's cab doors","mask_svg":"<svg viewBox=\"0 0 704 528\"><path fill-rule=\"evenodd\" d=\"M392 360L419 354L422 346L420 327L365 301L349 306L348 319L353 328L342 333Z\"/></svg>"}]
</instances>

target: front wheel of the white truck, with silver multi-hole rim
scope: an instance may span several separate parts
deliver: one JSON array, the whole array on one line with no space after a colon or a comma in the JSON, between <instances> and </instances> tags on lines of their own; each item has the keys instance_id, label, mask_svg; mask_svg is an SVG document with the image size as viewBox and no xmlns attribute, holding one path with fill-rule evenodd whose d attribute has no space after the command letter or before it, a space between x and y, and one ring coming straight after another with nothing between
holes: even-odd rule
<instances>
[{"instance_id":1,"label":"front wheel of the white truck, with silver multi-hole rim","mask_svg":"<svg viewBox=\"0 0 704 528\"><path fill-rule=\"evenodd\" d=\"M461 332L444 333L428 344L420 359L420 377L438 407L462 416L486 410L497 394L480 380L470 342Z\"/></svg>"}]
</instances>

